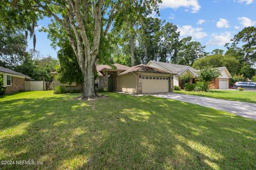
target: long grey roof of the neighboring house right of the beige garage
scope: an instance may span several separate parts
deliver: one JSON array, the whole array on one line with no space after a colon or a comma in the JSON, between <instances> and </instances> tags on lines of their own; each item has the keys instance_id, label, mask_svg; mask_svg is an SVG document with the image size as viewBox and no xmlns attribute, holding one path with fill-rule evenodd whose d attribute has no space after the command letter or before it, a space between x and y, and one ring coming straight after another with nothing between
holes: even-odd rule
<instances>
[{"instance_id":1,"label":"long grey roof of the neighboring house right of the beige garage","mask_svg":"<svg viewBox=\"0 0 256 170\"><path fill-rule=\"evenodd\" d=\"M187 66L187 65L180 65L180 64L172 64L172 63L164 63L164 62L156 62L156 61L150 61L152 63L155 63L161 67L163 67L166 70L169 70L171 72L177 73L178 76L186 72L187 70L191 72L195 77L197 77L198 70L194 69L193 67Z\"/></svg>"}]
</instances>

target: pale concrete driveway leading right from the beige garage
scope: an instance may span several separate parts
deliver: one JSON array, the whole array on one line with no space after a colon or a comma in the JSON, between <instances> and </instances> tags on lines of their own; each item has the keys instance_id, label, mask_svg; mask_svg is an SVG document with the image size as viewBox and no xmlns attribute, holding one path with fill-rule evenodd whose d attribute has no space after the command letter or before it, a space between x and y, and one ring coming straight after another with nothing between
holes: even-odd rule
<instances>
[{"instance_id":1,"label":"pale concrete driveway leading right from the beige garage","mask_svg":"<svg viewBox=\"0 0 256 170\"><path fill-rule=\"evenodd\" d=\"M210 97L201 97L195 95L184 95L175 93L151 94L152 96L167 99L175 99L187 103L197 104L205 107L212 107L221 111L233 113L239 116L256 120L256 104L246 103L242 101L231 101L216 99Z\"/></svg>"}]
</instances>

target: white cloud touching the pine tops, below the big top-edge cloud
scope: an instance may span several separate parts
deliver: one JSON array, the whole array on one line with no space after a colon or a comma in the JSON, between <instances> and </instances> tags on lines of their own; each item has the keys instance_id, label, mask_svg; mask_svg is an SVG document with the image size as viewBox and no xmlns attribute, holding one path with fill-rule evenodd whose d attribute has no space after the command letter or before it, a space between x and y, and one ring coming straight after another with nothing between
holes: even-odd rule
<instances>
[{"instance_id":1,"label":"white cloud touching the pine tops, below the big top-edge cloud","mask_svg":"<svg viewBox=\"0 0 256 170\"><path fill-rule=\"evenodd\" d=\"M178 28L180 31L180 36L191 36L195 39L202 39L207 37L207 33L203 31L203 28L193 28L191 25L184 25Z\"/></svg>"}]
</instances>

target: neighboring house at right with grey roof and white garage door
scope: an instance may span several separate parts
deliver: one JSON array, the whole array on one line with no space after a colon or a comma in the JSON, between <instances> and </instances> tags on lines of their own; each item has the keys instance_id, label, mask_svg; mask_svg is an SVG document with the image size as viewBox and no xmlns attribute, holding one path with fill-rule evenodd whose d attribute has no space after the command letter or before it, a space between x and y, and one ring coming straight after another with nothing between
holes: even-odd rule
<instances>
[{"instance_id":1,"label":"neighboring house at right with grey roof and white garage door","mask_svg":"<svg viewBox=\"0 0 256 170\"><path fill-rule=\"evenodd\" d=\"M187 65L156 62L156 61L150 61L147 65L156 67L158 69L163 69L166 71L177 72L177 74L174 75L174 78L173 78L174 86L182 87L182 84L180 83L179 78L181 77L181 75L184 75L186 73L190 74L191 77L193 77L193 79L191 80L190 83L194 83L196 81L196 79L198 78L197 72L199 70L196 70L193 67L190 67ZM232 78L228 69L226 67L217 67L214 69L219 70L221 75L211 82L210 88L211 89L228 89L229 88L229 79Z\"/></svg>"}]
</instances>

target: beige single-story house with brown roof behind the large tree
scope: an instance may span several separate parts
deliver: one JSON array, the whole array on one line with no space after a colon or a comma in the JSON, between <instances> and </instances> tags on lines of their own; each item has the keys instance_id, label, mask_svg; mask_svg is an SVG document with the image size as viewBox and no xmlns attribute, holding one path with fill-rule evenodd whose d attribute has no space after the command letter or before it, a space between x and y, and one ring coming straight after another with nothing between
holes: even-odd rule
<instances>
[{"instance_id":1,"label":"beige single-story house with brown roof behind the large tree","mask_svg":"<svg viewBox=\"0 0 256 170\"><path fill-rule=\"evenodd\" d=\"M134 67L127 67L121 64L114 64L114 67L98 65L97 71L99 77L95 80L95 90L104 88L106 91L119 91L130 94L171 92L173 91L173 75L177 74L144 64ZM52 72L51 74L57 75L58 73ZM61 84L54 79L53 87L58 85L82 90L82 86L75 82Z\"/></svg>"}]
</instances>

